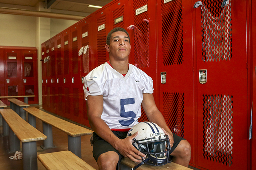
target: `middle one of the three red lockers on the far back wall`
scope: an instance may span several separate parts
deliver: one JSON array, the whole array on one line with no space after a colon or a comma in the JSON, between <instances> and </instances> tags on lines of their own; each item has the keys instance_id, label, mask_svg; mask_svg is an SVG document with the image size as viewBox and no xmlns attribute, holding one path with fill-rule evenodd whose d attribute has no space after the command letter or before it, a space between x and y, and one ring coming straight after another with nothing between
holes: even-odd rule
<instances>
[{"instance_id":1,"label":"middle one of the three red lockers on the far back wall","mask_svg":"<svg viewBox=\"0 0 256 170\"><path fill-rule=\"evenodd\" d=\"M21 50L5 49L5 87L6 95L21 96L22 95L22 56ZM18 98L24 101L24 98ZM7 100L6 105L10 105Z\"/></svg>"}]
</instances>

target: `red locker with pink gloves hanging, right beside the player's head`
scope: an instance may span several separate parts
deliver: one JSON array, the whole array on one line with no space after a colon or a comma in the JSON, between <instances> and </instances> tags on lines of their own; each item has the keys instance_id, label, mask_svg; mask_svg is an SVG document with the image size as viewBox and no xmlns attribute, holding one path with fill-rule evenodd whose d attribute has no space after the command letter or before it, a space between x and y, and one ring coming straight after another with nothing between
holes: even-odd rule
<instances>
[{"instance_id":1,"label":"red locker with pink gloves hanging, right beside the player's head","mask_svg":"<svg viewBox=\"0 0 256 170\"><path fill-rule=\"evenodd\" d=\"M157 107L158 99L158 83L156 77L156 8L154 0L129 1L131 11L133 11L134 29L130 31L131 39L131 57L130 63L137 67L153 79L153 96ZM131 17L130 17L131 18ZM129 24L130 26L130 24ZM144 110L139 121L148 121Z\"/></svg>"}]
</instances>

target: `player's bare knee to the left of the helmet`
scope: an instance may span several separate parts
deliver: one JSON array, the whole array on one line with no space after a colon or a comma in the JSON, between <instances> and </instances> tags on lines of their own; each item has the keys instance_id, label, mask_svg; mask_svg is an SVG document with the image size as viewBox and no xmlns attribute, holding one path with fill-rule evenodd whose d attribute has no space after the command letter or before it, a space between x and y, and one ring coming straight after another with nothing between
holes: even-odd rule
<instances>
[{"instance_id":1,"label":"player's bare knee to the left of the helmet","mask_svg":"<svg viewBox=\"0 0 256 170\"><path fill-rule=\"evenodd\" d=\"M97 164L99 170L116 170L118 161L119 155L117 152L108 151L99 156Z\"/></svg>"}]
</instances>

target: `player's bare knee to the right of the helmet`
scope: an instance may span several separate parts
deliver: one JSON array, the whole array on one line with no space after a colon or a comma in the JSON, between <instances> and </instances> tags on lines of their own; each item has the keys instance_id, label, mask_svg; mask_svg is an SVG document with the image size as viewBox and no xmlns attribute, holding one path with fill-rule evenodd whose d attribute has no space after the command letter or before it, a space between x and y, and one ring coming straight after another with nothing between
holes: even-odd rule
<instances>
[{"instance_id":1,"label":"player's bare knee to the right of the helmet","mask_svg":"<svg viewBox=\"0 0 256 170\"><path fill-rule=\"evenodd\" d=\"M175 150L171 153L172 161L176 164L188 167L191 158L191 146L188 141L181 140Z\"/></svg>"}]
</instances>

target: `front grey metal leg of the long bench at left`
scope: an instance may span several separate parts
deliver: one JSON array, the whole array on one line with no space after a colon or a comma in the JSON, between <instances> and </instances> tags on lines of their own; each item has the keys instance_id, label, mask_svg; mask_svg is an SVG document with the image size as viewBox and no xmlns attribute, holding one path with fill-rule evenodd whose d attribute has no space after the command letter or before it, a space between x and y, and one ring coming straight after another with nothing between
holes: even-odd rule
<instances>
[{"instance_id":1,"label":"front grey metal leg of the long bench at left","mask_svg":"<svg viewBox=\"0 0 256 170\"><path fill-rule=\"evenodd\" d=\"M23 170L37 170L37 142L22 143Z\"/></svg>"}]
</instances>

